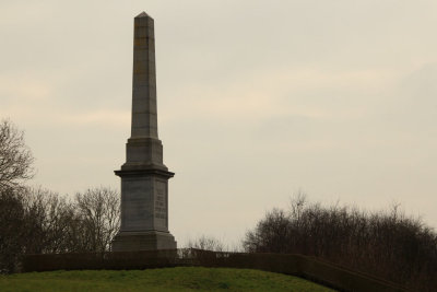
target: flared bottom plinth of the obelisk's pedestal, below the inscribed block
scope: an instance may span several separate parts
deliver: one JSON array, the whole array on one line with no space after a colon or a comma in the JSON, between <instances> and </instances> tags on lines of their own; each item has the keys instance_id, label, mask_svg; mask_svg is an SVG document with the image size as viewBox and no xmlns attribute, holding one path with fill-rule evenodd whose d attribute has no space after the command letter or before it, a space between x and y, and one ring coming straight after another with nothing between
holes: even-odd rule
<instances>
[{"instance_id":1,"label":"flared bottom plinth of the obelisk's pedestal, below the inscribed block","mask_svg":"<svg viewBox=\"0 0 437 292\"><path fill-rule=\"evenodd\" d=\"M113 240L113 252L176 249L175 237L169 232L119 232Z\"/></svg>"}]
</instances>

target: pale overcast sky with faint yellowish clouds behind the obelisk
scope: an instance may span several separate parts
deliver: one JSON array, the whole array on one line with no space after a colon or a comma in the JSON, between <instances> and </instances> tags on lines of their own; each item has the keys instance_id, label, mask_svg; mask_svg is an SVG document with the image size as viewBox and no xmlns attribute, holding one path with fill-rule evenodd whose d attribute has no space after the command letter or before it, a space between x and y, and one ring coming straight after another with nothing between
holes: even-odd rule
<instances>
[{"instance_id":1,"label":"pale overcast sky with faint yellowish clouds behind the obelisk","mask_svg":"<svg viewBox=\"0 0 437 292\"><path fill-rule=\"evenodd\" d=\"M0 118L33 185L119 189L141 11L179 244L236 243L299 189L437 226L435 0L2 0Z\"/></svg>"}]
</instances>

